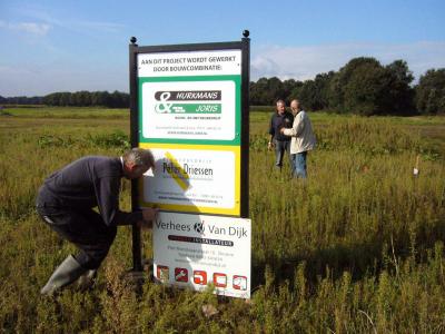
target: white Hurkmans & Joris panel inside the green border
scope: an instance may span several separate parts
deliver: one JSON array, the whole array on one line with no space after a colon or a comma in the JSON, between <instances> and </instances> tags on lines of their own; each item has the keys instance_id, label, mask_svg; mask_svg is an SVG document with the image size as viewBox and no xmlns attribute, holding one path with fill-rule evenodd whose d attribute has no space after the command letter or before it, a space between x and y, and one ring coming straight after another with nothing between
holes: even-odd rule
<instances>
[{"instance_id":1,"label":"white Hurkmans & Joris panel inside the green border","mask_svg":"<svg viewBox=\"0 0 445 334\"><path fill-rule=\"evenodd\" d=\"M235 139L234 81L142 84L142 136L167 139Z\"/></svg>"}]
</instances>

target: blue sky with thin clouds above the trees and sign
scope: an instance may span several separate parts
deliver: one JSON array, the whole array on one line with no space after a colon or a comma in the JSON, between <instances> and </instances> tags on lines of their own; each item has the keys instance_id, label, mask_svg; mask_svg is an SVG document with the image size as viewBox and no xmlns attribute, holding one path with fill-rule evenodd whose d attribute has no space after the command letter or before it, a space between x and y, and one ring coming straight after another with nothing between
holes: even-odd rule
<instances>
[{"instance_id":1,"label":"blue sky with thin clouds above the trees and sign","mask_svg":"<svg viewBox=\"0 0 445 334\"><path fill-rule=\"evenodd\" d=\"M0 0L0 96L129 91L128 43L237 41L250 80L313 79L354 57L445 68L444 0Z\"/></svg>"}]
</instances>

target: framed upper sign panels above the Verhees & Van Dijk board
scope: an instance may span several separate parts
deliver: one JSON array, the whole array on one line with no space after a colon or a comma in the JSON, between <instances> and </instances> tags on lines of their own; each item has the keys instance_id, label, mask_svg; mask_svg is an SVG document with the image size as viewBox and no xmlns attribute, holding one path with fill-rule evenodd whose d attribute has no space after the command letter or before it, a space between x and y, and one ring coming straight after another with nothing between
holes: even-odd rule
<instances>
[{"instance_id":1,"label":"framed upper sign panels above the Verhees & Van Dijk board","mask_svg":"<svg viewBox=\"0 0 445 334\"><path fill-rule=\"evenodd\" d=\"M137 146L157 161L140 180L139 205L247 216L244 45L204 46L137 53Z\"/></svg>"}]
</instances>

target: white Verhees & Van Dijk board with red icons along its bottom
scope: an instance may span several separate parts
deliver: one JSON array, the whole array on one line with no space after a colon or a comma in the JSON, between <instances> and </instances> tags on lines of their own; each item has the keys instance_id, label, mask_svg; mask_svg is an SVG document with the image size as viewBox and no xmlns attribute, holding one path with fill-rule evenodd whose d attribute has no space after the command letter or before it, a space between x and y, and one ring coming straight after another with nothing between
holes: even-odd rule
<instances>
[{"instance_id":1,"label":"white Verhees & Van Dijk board with red icons along its bottom","mask_svg":"<svg viewBox=\"0 0 445 334\"><path fill-rule=\"evenodd\" d=\"M160 213L154 224L158 282L250 298L250 219Z\"/></svg>"}]
</instances>

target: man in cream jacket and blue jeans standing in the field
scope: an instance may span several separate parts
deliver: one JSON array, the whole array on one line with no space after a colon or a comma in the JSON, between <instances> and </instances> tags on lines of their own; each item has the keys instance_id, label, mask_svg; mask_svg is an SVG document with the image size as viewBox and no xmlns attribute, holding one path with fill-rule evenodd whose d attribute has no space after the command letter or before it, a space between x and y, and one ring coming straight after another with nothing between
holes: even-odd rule
<instances>
[{"instance_id":1,"label":"man in cream jacket and blue jeans standing in the field","mask_svg":"<svg viewBox=\"0 0 445 334\"><path fill-rule=\"evenodd\" d=\"M294 177L306 178L306 157L307 151L315 148L316 139L313 126L306 111L300 108L298 100L290 102L290 109L294 115L291 129L281 128L280 132L290 136L290 159L294 167Z\"/></svg>"}]
</instances>

